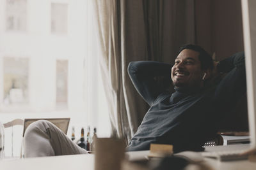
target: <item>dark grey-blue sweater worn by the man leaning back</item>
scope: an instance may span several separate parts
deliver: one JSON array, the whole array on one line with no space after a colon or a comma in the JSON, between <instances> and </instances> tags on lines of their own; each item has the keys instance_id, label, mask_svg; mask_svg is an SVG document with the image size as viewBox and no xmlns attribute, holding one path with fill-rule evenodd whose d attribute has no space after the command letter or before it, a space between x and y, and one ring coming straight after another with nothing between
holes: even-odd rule
<instances>
[{"instance_id":1,"label":"dark grey-blue sweater worn by the man leaning back","mask_svg":"<svg viewBox=\"0 0 256 170\"><path fill-rule=\"evenodd\" d=\"M172 94L157 82L164 76L169 83L170 64L153 61L131 62L128 72L134 87L150 105L128 151L148 150L150 143L172 144L174 152L201 150L218 131L218 124L246 91L244 53L239 52L218 66L227 73L202 89L175 89Z\"/></svg>"}]
</instances>

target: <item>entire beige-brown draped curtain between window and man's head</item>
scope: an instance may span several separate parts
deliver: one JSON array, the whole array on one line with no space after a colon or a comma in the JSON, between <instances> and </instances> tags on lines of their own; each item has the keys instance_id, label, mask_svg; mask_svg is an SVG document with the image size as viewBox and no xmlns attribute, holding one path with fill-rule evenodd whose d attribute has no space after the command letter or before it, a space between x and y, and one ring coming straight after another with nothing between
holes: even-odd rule
<instances>
[{"instance_id":1,"label":"entire beige-brown draped curtain between window and man's head","mask_svg":"<svg viewBox=\"0 0 256 170\"><path fill-rule=\"evenodd\" d=\"M93 4L112 135L129 141L148 106L134 89L127 66L133 60L173 62L179 46L195 43L194 1L93 0Z\"/></svg>"}]
</instances>

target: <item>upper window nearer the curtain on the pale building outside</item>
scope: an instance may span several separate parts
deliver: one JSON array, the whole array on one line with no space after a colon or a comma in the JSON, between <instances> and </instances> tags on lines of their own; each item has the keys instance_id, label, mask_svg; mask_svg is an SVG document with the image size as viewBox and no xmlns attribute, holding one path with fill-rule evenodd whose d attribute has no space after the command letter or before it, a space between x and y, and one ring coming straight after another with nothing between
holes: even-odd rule
<instances>
[{"instance_id":1,"label":"upper window nearer the curtain on the pale building outside","mask_svg":"<svg viewBox=\"0 0 256 170\"><path fill-rule=\"evenodd\" d=\"M67 4L51 4L51 31L52 33L67 33Z\"/></svg>"}]
</instances>

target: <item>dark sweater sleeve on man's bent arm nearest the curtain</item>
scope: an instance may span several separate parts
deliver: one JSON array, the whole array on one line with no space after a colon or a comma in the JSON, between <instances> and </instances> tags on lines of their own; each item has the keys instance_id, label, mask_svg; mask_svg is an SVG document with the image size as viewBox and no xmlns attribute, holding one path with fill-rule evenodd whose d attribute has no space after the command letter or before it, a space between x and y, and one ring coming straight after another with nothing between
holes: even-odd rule
<instances>
[{"instance_id":1,"label":"dark sweater sleeve on man's bent arm nearest the curtain","mask_svg":"<svg viewBox=\"0 0 256 170\"><path fill-rule=\"evenodd\" d=\"M171 69L170 64L163 62L136 61L129 63L128 73L136 90L151 106L164 92L164 87L172 82ZM159 78L165 81L159 81Z\"/></svg>"}]
</instances>

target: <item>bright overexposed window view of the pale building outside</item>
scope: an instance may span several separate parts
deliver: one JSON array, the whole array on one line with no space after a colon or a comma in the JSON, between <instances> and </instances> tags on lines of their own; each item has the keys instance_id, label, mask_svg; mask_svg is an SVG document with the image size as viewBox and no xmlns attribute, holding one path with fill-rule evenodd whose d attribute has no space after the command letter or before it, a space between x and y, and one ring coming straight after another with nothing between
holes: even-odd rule
<instances>
[{"instance_id":1,"label":"bright overexposed window view of the pale building outside","mask_svg":"<svg viewBox=\"0 0 256 170\"><path fill-rule=\"evenodd\" d=\"M0 122L70 118L110 135L90 0L0 0ZM5 155L19 156L22 127L5 129Z\"/></svg>"}]
</instances>

